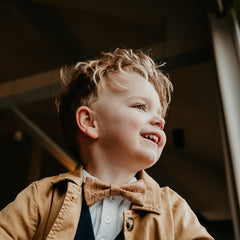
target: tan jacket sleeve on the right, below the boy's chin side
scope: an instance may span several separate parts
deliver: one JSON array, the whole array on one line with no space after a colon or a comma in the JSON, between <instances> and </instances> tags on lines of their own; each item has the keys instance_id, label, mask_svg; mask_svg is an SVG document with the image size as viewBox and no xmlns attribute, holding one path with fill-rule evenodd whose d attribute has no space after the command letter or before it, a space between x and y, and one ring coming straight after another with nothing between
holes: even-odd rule
<instances>
[{"instance_id":1,"label":"tan jacket sleeve on the right, below the boy's chin side","mask_svg":"<svg viewBox=\"0 0 240 240\"><path fill-rule=\"evenodd\" d=\"M213 240L199 223L187 202L175 193L173 199L173 219L175 238L178 240Z\"/></svg>"}]
</instances>

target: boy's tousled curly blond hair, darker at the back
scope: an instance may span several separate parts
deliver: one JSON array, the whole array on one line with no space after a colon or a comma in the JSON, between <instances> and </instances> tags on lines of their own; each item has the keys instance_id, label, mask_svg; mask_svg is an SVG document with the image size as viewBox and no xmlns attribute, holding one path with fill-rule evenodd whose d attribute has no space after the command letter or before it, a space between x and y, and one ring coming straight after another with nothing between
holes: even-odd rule
<instances>
[{"instance_id":1,"label":"boy's tousled curly blond hair, darker at the back","mask_svg":"<svg viewBox=\"0 0 240 240\"><path fill-rule=\"evenodd\" d=\"M151 82L157 91L165 117L171 101L173 86L159 65L141 50L119 49L103 52L100 58L78 62L60 71L62 89L55 99L61 121L66 146L79 159L79 147L76 139L78 130L75 113L79 106L91 106L98 99L101 89L117 90L124 88L114 73L134 72Z\"/></svg>"}]
</instances>

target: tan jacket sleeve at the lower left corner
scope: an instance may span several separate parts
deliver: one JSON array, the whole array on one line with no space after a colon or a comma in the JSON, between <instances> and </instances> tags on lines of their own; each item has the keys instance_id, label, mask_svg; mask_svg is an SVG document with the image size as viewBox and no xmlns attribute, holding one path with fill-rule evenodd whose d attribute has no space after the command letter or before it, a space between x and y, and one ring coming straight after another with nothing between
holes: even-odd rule
<instances>
[{"instance_id":1,"label":"tan jacket sleeve at the lower left corner","mask_svg":"<svg viewBox=\"0 0 240 240\"><path fill-rule=\"evenodd\" d=\"M32 183L0 212L0 239L32 239L37 223L37 184Z\"/></svg>"}]
</instances>

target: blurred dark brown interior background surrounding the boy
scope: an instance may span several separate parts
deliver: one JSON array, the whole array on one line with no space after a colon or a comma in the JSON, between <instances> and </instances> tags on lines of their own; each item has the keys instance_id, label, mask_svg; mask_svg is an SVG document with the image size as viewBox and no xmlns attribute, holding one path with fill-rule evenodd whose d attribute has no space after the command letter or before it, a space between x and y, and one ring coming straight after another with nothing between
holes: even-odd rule
<instances>
[{"instance_id":1,"label":"blurred dark brown interior background surrounding the boy","mask_svg":"<svg viewBox=\"0 0 240 240\"><path fill-rule=\"evenodd\" d=\"M233 5L223 1L226 11ZM67 171L7 109L17 106L64 148L53 97L59 68L116 47L140 48L166 63L174 85L168 142L148 171L182 195L216 239L234 239L209 14L221 17L217 1L1 1L0 209L31 181Z\"/></svg>"}]
</instances>

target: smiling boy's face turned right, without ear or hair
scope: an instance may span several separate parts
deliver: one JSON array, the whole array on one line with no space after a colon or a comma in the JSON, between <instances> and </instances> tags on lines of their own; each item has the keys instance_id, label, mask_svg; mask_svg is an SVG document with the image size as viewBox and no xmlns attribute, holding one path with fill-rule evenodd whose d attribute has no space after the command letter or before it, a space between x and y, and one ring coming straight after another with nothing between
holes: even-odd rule
<instances>
[{"instance_id":1,"label":"smiling boy's face turned right, without ear or hair","mask_svg":"<svg viewBox=\"0 0 240 240\"><path fill-rule=\"evenodd\" d=\"M137 172L155 164L166 143L162 107L153 85L139 74L114 77L127 89L100 92L93 105L97 141L104 161Z\"/></svg>"}]
</instances>

